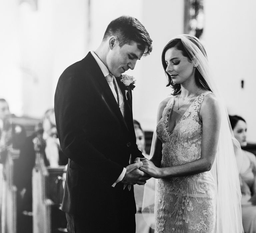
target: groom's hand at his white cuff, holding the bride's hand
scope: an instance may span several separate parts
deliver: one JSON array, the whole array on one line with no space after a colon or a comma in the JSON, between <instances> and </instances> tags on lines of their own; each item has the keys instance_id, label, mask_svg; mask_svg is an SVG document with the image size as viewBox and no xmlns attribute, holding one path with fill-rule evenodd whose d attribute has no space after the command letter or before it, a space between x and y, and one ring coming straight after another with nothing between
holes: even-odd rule
<instances>
[{"instance_id":1,"label":"groom's hand at his white cuff, holding the bride's hand","mask_svg":"<svg viewBox=\"0 0 256 233\"><path fill-rule=\"evenodd\" d=\"M121 182L124 184L139 184L143 185L146 183L146 180L150 178L145 172L139 170L143 165L141 161L130 164L126 167L126 173Z\"/></svg>"}]
</instances>

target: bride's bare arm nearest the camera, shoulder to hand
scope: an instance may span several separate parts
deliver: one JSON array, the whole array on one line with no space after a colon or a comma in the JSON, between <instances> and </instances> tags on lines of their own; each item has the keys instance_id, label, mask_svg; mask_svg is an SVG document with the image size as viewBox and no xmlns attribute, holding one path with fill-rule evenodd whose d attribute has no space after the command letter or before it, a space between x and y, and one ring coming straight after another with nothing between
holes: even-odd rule
<instances>
[{"instance_id":1,"label":"bride's bare arm nearest the camera, shoulder to hand","mask_svg":"<svg viewBox=\"0 0 256 233\"><path fill-rule=\"evenodd\" d=\"M201 157L192 162L173 167L155 167L149 160L143 159L142 171L155 178L188 176L209 171L215 159L219 139L221 116L214 95L207 95L200 109L202 120Z\"/></svg>"}]
</instances>

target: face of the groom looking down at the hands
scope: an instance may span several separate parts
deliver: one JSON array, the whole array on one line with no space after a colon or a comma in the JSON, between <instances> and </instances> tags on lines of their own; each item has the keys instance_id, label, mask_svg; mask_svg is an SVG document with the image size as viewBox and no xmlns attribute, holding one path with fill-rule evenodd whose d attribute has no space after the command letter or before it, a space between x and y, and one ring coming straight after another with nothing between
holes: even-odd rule
<instances>
[{"instance_id":1,"label":"face of the groom looking down at the hands","mask_svg":"<svg viewBox=\"0 0 256 233\"><path fill-rule=\"evenodd\" d=\"M115 77L119 77L125 71L133 70L137 60L140 60L144 51L138 49L137 43L125 44L119 47L116 40L109 44L110 50L106 57L107 67Z\"/></svg>"}]
</instances>

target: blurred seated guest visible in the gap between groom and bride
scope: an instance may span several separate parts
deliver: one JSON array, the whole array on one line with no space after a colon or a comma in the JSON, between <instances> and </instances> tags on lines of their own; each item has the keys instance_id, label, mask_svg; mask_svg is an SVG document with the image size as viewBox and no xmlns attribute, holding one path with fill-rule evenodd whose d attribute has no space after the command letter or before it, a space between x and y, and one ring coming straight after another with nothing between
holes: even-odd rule
<instances>
[{"instance_id":1,"label":"blurred seated guest visible in the gap between groom and bride","mask_svg":"<svg viewBox=\"0 0 256 233\"><path fill-rule=\"evenodd\" d=\"M138 146L138 149L142 152L142 154L145 156L145 158L149 159L149 154L146 153L145 147L146 147L146 141L145 141L145 133L144 130L141 128L140 123L137 120L133 120L134 130L135 130L135 136L136 136L136 144ZM155 182L153 180L154 178L150 178L147 182ZM154 214L151 216L151 221L145 221L144 217L141 213L142 209L142 201L143 201L143 193L144 193L144 185L138 185L135 184L134 186L134 197L135 197L135 203L137 208L137 213L135 215L136 220L136 233L153 233L154 230L151 228L154 228L155 219Z\"/></svg>"}]
</instances>

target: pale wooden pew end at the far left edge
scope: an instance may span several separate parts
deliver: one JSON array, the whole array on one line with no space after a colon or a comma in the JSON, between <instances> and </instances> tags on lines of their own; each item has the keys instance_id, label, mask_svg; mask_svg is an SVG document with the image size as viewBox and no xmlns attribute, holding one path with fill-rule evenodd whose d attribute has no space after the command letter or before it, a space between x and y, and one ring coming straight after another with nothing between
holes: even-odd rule
<instances>
[{"instance_id":1,"label":"pale wooden pew end at the far left edge","mask_svg":"<svg viewBox=\"0 0 256 233\"><path fill-rule=\"evenodd\" d=\"M1 171L1 232L17 232L17 188L13 183L14 163L19 150L8 148L2 152L3 165Z\"/></svg>"}]
</instances>

